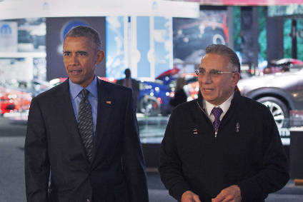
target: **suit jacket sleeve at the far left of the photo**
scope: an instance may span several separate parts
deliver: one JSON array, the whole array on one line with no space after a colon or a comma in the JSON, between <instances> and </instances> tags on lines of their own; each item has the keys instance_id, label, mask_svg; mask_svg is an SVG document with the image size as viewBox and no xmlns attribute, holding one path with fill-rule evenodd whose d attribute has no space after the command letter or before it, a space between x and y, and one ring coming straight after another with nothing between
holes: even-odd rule
<instances>
[{"instance_id":1,"label":"suit jacket sleeve at the far left of the photo","mask_svg":"<svg viewBox=\"0 0 303 202\"><path fill-rule=\"evenodd\" d=\"M35 98L31 101L29 109L24 155L26 199L30 202L47 201L49 159L46 126Z\"/></svg>"}]
</instances>

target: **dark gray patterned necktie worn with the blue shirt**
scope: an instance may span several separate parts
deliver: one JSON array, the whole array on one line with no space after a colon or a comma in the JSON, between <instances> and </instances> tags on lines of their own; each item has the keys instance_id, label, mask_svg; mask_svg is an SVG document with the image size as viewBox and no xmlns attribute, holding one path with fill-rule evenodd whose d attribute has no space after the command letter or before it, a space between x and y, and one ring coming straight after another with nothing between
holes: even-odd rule
<instances>
[{"instance_id":1,"label":"dark gray patterned necktie worn with the blue shirt","mask_svg":"<svg viewBox=\"0 0 303 202\"><path fill-rule=\"evenodd\" d=\"M86 156L91 162L94 146L94 126L93 116L91 114L91 104L89 103L89 99L87 99L87 94L89 94L89 91L83 89L80 93L82 98L79 105L78 128L86 150Z\"/></svg>"}]
</instances>

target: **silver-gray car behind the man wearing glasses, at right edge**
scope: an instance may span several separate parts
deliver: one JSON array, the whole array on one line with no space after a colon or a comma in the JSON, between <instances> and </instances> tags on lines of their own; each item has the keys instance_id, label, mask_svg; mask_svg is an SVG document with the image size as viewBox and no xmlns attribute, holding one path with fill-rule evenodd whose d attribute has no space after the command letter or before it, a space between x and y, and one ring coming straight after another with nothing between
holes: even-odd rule
<instances>
[{"instance_id":1,"label":"silver-gray car behind the man wearing glasses, at right edge","mask_svg":"<svg viewBox=\"0 0 303 202\"><path fill-rule=\"evenodd\" d=\"M303 69L241 79L241 94L263 103L272 111L278 127L289 126L289 111L303 109Z\"/></svg>"}]
</instances>

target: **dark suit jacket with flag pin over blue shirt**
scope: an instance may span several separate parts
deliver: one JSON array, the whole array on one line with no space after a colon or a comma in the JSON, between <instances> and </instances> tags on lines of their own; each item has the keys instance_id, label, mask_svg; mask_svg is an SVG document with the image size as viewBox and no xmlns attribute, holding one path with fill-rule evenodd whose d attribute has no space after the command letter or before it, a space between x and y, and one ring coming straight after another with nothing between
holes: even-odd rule
<instances>
[{"instance_id":1,"label":"dark suit jacket with flag pin over blue shirt","mask_svg":"<svg viewBox=\"0 0 303 202\"><path fill-rule=\"evenodd\" d=\"M25 179L30 202L148 201L131 89L98 79L92 163L79 135L68 79L36 96L26 132Z\"/></svg>"}]
</instances>

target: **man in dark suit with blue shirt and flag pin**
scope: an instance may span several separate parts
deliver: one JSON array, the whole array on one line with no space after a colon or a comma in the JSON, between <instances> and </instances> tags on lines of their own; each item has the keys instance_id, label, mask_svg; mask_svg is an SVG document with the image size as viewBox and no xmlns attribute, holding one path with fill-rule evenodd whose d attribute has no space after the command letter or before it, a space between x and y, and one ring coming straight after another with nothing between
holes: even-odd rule
<instances>
[{"instance_id":1,"label":"man in dark suit with blue shirt and flag pin","mask_svg":"<svg viewBox=\"0 0 303 202\"><path fill-rule=\"evenodd\" d=\"M100 44L94 29L71 29L63 51L69 79L31 101L29 202L148 201L134 99L130 89L97 79Z\"/></svg>"}]
</instances>

